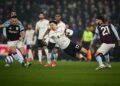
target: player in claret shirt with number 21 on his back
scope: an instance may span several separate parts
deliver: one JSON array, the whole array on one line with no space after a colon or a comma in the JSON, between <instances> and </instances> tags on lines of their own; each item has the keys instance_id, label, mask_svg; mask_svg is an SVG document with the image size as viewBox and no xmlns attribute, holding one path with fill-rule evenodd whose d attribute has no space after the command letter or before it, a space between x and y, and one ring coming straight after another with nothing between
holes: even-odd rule
<instances>
[{"instance_id":1,"label":"player in claret shirt with number 21 on his back","mask_svg":"<svg viewBox=\"0 0 120 86\"><path fill-rule=\"evenodd\" d=\"M96 60L99 64L96 70L99 70L105 67L111 68L110 57L108 52L115 47L116 43L119 43L120 38L113 24L105 23L105 19L103 16L97 16L95 23L97 27L95 30L93 41L91 42L90 46L93 45L93 43L95 42L95 39L97 38L100 38L100 41L101 41L101 46L98 48L98 50L95 53ZM106 65L103 64L101 57L105 57Z\"/></svg>"}]
</instances>

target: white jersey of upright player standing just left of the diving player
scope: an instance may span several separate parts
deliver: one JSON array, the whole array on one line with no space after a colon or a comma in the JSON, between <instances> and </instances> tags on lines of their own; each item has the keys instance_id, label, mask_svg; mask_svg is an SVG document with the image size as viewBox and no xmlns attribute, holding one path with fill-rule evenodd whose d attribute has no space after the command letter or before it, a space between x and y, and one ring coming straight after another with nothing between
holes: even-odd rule
<instances>
[{"instance_id":1,"label":"white jersey of upright player standing just left of the diving player","mask_svg":"<svg viewBox=\"0 0 120 86\"><path fill-rule=\"evenodd\" d=\"M49 21L47 19L39 20L36 23L35 29L39 30L38 39L42 39L46 30L49 28Z\"/></svg>"}]
</instances>

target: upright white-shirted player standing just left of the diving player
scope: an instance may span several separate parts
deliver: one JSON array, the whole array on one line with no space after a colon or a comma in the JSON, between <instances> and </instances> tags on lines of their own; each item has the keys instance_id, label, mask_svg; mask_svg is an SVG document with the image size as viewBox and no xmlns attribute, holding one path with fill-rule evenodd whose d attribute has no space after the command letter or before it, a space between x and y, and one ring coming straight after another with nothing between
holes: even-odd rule
<instances>
[{"instance_id":1,"label":"upright white-shirted player standing just left of the diving player","mask_svg":"<svg viewBox=\"0 0 120 86\"><path fill-rule=\"evenodd\" d=\"M43 12L39 14L39 19L40 20L36 23L36 27L35 27L35 33L39 33L38 34L38 59L39 61L38 62L39 64L42 64L42 50L44 50L47 56L47 63L51 64L48 49L45 43L42 41L44 33L49 28L49 21L45 19L45 14Z\"/></svg>"}]
</instances>

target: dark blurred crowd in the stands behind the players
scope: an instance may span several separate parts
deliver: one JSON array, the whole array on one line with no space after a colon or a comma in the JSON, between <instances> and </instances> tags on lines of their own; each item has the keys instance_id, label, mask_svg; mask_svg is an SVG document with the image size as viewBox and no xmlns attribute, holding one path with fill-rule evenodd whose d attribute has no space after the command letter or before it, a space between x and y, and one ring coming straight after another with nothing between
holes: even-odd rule
<instances>
[{"instance_id":1,"label":"dark blurred crowd in the stands behind the players","mask_svg":"<svg viewBox=\"0 0 120 86\"><path fill-rule=\"evenodd\" d=\"M0 0L1 24L9 19L13 9L17 11L18 18L25 27L29 23L35 26L41 11L46 13L48 19L53 19L56 12L61 13L62 20L74 31L71 39L75 42L80 41L89 24L94 24L96 15L103 15L116 26L120 34L119 0ZM5 43L2 30L0 43Z\"/></svg>"}]
</instances>

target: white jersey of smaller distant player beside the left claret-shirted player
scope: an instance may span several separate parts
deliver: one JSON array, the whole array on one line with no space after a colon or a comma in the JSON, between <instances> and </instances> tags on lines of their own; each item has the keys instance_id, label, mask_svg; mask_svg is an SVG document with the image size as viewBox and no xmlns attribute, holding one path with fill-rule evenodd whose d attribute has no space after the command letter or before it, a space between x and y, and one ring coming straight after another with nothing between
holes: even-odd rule
<instances>
[{"instance_id":1,"label":"white jersey of smaller distant player beside the left claret-shirted player","mask_svg":"<svg viewBox=\"0 0 120 86\"><path fill-rule=\"evenodd\" d=\"M32 45L34 44L35 42L33 41L33 35L34 35L34 30L26 30L26 33L25 33L25 42L27 45Z\"/></svg>"}]
</instances>

